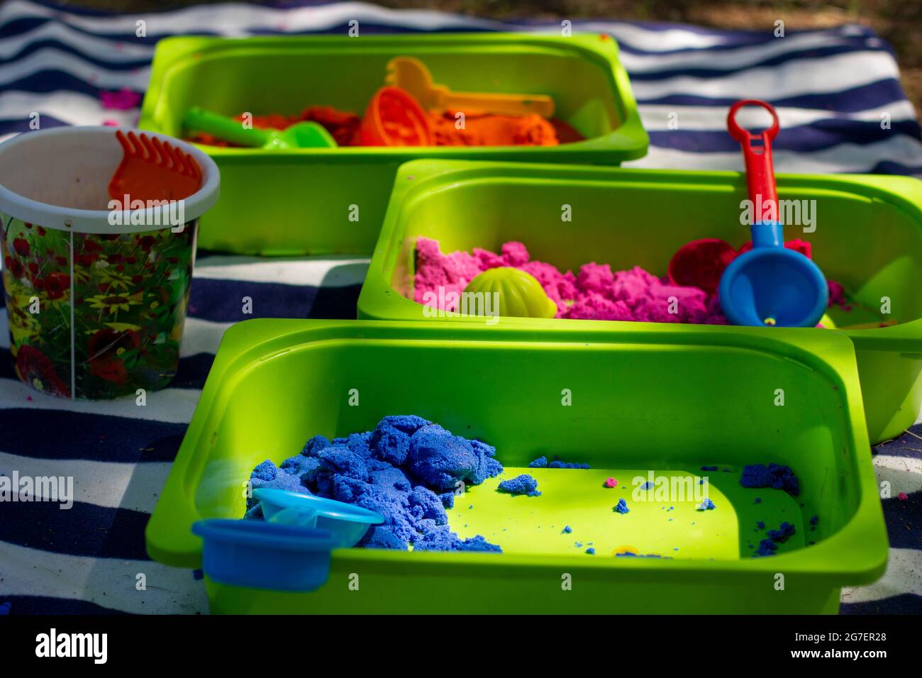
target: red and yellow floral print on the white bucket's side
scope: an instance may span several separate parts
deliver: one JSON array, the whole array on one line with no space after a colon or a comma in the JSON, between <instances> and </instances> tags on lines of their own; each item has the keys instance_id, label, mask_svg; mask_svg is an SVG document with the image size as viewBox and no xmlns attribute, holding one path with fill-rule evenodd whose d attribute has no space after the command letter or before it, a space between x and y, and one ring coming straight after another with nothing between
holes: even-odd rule
<instances>
[{"instance_id":1,"label":"red and yellow floral print on the white bucket's side","mask_svg":"<svg viewBox=\"0 0 922 678\"><path fill-rule=\"evenodd\" d=\"M171 382L196 220L182 232L75 232L71 262L70 232L0 218L10 347L22 381L54 396L88 399L135 395L138 388Z\"/></svg>"}]
</instances>

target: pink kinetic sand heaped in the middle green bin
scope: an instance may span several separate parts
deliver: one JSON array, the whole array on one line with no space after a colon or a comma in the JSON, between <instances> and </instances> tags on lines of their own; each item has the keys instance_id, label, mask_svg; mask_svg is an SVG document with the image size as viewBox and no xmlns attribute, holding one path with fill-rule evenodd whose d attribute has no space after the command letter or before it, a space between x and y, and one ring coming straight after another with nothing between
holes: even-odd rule
<instances>
[{"instance_id":1,"label":"pink kinetic sand heaped in the middle green bin","mask_svg":"<svg viewBox=\"0 0 922 678\"><path fill-rule=\"evenodd\" d=\"M551 264L531 261L526 246L514 242L503 244L499 255L479 248L474 248L473 254L459 251L444 255L438 241L420 237L416 250L414 299L418 303L424 303L426 292L433 292L451 305L457 297L450 292L460 295L479 273L507 266L534 276L557 304L559 318L727 324L716 295L709 297L696 287L670 285L636 266L612 273L608 264L592 262L580 267L579 274L574 276L572 271L561 273Z\"/></svg>"}]
</instances>

